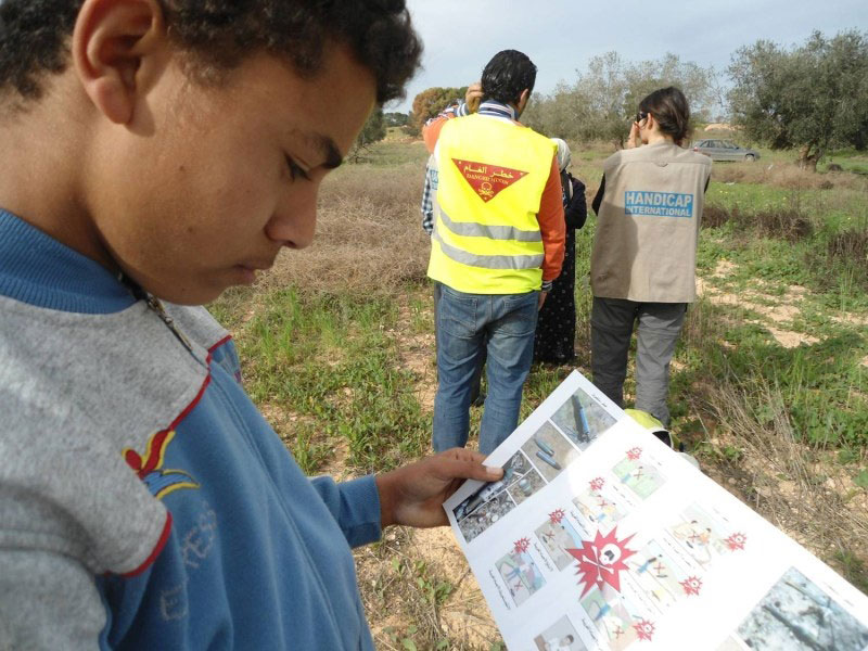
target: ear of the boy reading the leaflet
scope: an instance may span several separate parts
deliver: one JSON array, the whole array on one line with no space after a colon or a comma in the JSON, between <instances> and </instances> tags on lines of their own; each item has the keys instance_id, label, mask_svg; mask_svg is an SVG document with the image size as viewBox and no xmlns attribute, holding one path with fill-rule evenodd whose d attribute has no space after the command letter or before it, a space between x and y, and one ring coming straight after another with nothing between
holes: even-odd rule
<instances>
[{"instance_id":1,"label":"ear of the boy reading the leaflet","mask_svg":"<svg viewBox=\"0 0 868 651\"><path fill-rule=\"evenodd\" d=\"M132 119L137 93L165 46L156 0L85 0L73 31L73 63L93 104L113 123Z\"/></svg>"}]
</instances>

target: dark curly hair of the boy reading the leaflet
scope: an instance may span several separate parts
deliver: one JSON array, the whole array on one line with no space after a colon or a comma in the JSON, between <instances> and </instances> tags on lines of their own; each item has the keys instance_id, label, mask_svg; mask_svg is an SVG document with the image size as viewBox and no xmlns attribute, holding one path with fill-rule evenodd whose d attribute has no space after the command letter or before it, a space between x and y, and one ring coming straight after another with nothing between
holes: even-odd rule
<instances>
[{"instance_id":1,"label":"dark curly hair of the boy reading the leaflet","mask_svg":"<svg viewBox=\"0 0 868 651\"><path fill-rule=\"evenodd\" d=\"M422 42L405 0L158 0L169 37L193 55L202 80L263 49L304 76L322 63L329 40L346 43L376 77L379 103L404 97ZM0 0L0 92L41 95L41 78L62 73L82 0Z\"/></svg>"}]
</instances>

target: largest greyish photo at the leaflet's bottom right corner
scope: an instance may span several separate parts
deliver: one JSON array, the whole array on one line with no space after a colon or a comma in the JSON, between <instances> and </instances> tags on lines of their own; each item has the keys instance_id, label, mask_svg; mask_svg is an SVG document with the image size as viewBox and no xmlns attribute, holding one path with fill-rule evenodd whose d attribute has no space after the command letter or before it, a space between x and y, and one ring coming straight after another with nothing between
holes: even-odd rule
<instances>
[{"instance_id":1,"label":"largest greyish photo at the leaflet's bottom right corner","mask_svg":"<svg viewBox=\"0 0 868 651\"><path fill-rule=\"evenodd\" d=\"M865 651L868 627L790 567L718 651Z\"/></svg>"}]
</instances>

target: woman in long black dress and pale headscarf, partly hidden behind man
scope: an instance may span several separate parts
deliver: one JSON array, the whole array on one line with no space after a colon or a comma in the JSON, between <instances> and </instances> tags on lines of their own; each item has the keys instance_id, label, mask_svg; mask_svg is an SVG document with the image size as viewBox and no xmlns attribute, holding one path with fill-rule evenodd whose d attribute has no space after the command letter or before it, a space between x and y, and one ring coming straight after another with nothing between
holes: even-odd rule
<instances>
[{"instance_id":1,"label":"woman in long black dress and pale headscarf, partly hidden behind man","mask_svg":"<svg viewBox=\"0 0 868 651\"><path fill-rule=\"evenodd\" d=\"M534 359L552 363L566 363L575 357L576 336L576 230L585 226L588 208L585 203L585 184L574 178L570 167L570 148L560 138L552 138L558 144L558 167L561 170L563 188L563 208L566 219L566 251L561 275L554 281L536 326Z\"/></svg>"}]
</instances>

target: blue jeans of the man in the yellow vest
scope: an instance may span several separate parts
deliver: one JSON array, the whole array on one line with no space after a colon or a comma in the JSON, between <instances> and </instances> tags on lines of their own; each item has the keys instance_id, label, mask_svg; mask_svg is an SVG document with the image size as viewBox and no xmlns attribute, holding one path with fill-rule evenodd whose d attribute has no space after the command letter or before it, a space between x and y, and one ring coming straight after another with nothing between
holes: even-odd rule
<instances>
[{"instance_id":1,"label":"blue jeans of the man in the yellow vest","mask_svg":"<svg viewBox=\"0 0 868 651\"><path fill-rule=\"evenodd\" d=\"M488 354L488 396L480 450L489 454L519 424L522 388L534 357L539 292L464 294L442 286L437 305L437 397L434 450L463 447L470 430L470 394L480 358Z\"/></svg>"}]
</instances>

